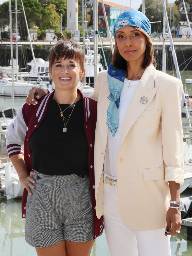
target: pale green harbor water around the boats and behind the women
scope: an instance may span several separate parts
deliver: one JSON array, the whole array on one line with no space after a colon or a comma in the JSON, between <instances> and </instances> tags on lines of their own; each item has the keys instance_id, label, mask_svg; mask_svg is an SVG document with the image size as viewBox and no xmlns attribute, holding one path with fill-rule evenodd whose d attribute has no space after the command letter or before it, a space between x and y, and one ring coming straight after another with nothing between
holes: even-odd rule
<instances>
[{"instance_id":1,"label":"pale green harbor water around the boats and behind the women","mask_svg":"<svg viewBox=\"0 0 192 256\"><path fill-rule=\"evenodd\" d=\"M187 74L183 74L183 83L185 77L192 79L192 71L189 72L190 77L188 77ZM25 98L15 98L16 112L18 112L19 107L24 102ZM0 111L9 108L12 108L11 97L0 96ZM187 123L186 118L182 118L182 122L183 125L185 125ZM190 195L192 195L192 189L187 189L181 194L181 197ZM181 227L181 233L177 236L171 236L170 246L172 256L192 255L192 241L187 240L186 227ZM35 248L28 245L25 241L25 219L22 219L21 199L7 200L4 197L0 197L0 255L36 255ZM91 251L91 256L110 256L105 231L96 239Z\"/></svg>"}]
</instances>

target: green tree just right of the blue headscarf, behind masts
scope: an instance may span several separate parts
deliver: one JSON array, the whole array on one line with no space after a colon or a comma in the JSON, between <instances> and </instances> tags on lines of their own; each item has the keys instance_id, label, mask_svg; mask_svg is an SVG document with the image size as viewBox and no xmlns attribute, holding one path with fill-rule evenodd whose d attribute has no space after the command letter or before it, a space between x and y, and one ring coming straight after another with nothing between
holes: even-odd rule
<instances>
[{"instance_id":1,"label":"green tree just right of the blue headscarf, behind masts","mask_svg":"<svg viewBox=\"0 0 192 256\"><path fill-rule=\"evenodd\" d=\"M192 0L191 0L192 1ZM170 4L166 4L168 19L170 19ZM139 11L142 11L142 5L140 5ZM163 2L162 0L146 0L145 1L145 15L148 17L151 23L151 33L162 33L163 31ZM171 7L171 27L178 26L179 11L176 5Z\"/></svg>"}]
</instances>

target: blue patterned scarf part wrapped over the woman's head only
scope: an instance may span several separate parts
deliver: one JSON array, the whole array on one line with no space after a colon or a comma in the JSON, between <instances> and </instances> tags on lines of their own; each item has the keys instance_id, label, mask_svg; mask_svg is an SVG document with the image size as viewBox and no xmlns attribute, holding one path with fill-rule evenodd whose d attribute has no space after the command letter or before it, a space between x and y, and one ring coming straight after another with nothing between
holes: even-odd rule
<instances>
[{"instance_id":1,"label":"blue patterned scarf part wrapped over the woman's head only","mask_svg":"<svg viewBox=\"0 0 192 256\"><path fill-rule=\"evenodd\" d=\"M113 34L116 36L116 32L125 26L135 26L144 30L149 36L151 36L151 24L147 16L137 10L127 10L122 12L118 17L114 25Z\"/></svg>"}]
</instances>

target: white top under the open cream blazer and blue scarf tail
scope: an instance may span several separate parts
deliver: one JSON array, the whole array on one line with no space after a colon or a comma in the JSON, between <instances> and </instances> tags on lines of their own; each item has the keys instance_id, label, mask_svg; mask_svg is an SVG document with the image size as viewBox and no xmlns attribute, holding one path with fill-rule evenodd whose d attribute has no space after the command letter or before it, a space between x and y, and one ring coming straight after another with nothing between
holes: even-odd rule
<instances>
[{"instance_id":1,"label":"white top under the open cream blazer and blue scarf tail","mask_svg":"<svg viewBox=\"0 0 192 256\"><path fill-rule=\"evenodd\" d=\"M127 80L126 78L124 79L120 96L119 126L116 135L113 137L110 130L108 129L107 147L104 159L104 172L109 176L114 177L115 179L117 178L117 155L119 151L123 120L139 81L140 80L132 81ZM129 83L130 87L128 87Z\"/></svg>"}]
</instances>

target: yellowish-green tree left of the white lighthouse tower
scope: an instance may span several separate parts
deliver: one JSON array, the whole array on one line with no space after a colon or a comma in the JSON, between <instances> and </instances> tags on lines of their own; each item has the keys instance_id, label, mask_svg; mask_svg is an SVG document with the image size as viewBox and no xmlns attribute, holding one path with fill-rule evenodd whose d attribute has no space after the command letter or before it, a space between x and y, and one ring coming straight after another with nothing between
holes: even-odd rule
<instances>
[{"instance_id":1,"label":"yellowish-green tree left of the white lighthouse tower","mask_svg":"<svg viewBox=\"0 0 192 256\"><path fill-rule=\"evenodd\" d=\"M50 4L45 8L45 11L49 13L49 19L41 20L40 28L41 29L60 29L60 16L56 11L56 6L54 4Z\"/></svg>"}]
</instances>

